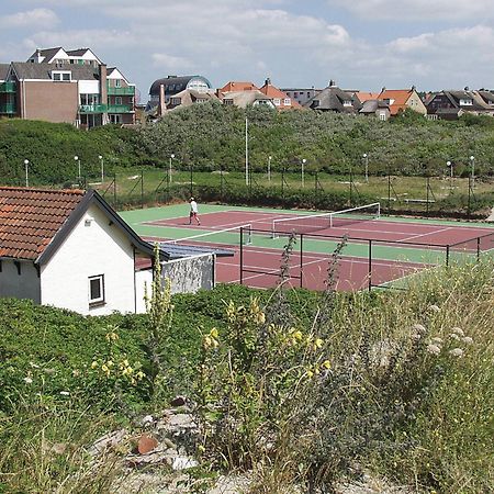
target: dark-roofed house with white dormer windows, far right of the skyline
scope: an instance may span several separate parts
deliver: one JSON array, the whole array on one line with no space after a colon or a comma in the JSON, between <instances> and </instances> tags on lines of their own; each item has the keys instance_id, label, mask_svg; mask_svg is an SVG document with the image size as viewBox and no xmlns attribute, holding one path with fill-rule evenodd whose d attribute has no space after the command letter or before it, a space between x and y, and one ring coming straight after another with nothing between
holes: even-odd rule
<instances>
[{"instance_id":1,"label":"dark-roofed house with white dormer windows, far right of the skyline","mask_svg":"<svg viewBox=\"0 0 494 494\"><path fill-rule=\"evenodd\" d=\"M441 91L427 101L427 116L431 120L458 120L464 113L492 115L493 108L468 88L463 91Z\"/></svg>"}]
</instances>

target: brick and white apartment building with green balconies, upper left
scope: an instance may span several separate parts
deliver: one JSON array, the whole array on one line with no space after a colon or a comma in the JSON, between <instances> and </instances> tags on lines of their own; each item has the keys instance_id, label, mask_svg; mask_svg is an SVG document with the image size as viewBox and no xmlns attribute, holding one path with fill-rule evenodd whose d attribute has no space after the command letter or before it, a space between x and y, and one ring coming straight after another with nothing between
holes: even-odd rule
<instances>
[{"instance_id":1,"label":"brick and white apartment building with green balconies, upper left","mask_svg":"<svg viewBox=\"0 0 494 494\"><path fill-rule=\"evenodd\" d=\"M135 123L135 86L89 48L37 49L0 65L0 117L93 127Z\"/></svg>"}]
</instances>

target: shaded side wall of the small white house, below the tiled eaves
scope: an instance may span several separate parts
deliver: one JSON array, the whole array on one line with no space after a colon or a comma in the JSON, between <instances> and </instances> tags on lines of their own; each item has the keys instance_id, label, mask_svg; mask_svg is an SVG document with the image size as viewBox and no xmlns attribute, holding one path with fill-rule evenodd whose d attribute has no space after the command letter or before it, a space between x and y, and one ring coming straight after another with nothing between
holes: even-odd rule
<instances>
[{"instance_id":1,"label":"shaded side wall of the small white house, below the tiled eaves","mask_svg":"<svg viewBox=\"0 0 494 494\"><path fill-rule=\"evenodd\" d=\"M0 296L31 299L40 303L40 278L33 262L20 261L21 274L19 274L13 260L2 259L1 263Z\"/></svg>"}]
</instances>

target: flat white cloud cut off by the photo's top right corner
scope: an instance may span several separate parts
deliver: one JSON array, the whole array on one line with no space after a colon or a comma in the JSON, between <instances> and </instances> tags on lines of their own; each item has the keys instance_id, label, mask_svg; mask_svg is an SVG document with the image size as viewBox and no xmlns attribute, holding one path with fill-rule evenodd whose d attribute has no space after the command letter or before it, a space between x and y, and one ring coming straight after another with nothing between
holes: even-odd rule
<instances>
[{"instance_id":1,"label":"flat white cloud cut off by the photo's top right corner","mask_svg":"<svg viewBox=\"0 0 494 494\"><path fill-rule=\"evenodd\" d=\"M492 0L327 0L363 19L407 21L467 21L494 19Z\"/></svg>"}]
</instances>

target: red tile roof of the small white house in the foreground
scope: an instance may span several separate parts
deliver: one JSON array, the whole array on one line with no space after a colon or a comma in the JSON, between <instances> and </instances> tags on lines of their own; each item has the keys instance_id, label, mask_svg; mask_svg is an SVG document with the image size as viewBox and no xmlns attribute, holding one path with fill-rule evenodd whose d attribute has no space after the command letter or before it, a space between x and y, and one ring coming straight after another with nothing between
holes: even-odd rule
<instances>
[{"instance_id":1,"label":"red tile roof of the small white house in the foreground","mask_svg":"<svg viewBox=\"0 0 494 494\"><path fill-rule=\"evenodd\" d=\"M36 260L85 194L0 187L0 257Z\"/></svg>"}]
</instances>

